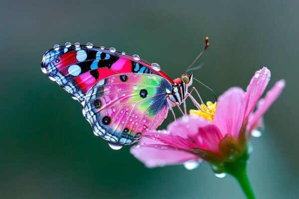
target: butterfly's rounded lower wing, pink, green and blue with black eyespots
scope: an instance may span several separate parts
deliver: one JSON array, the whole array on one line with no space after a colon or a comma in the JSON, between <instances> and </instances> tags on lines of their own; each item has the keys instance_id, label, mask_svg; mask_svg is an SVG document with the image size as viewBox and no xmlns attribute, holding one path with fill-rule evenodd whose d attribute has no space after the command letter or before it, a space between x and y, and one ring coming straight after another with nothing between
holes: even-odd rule
<instances>
[{"instance_id":1,"label":"butterfly's rounded lower wing, pink, green and blue with black eyespots","mask_svg":"<svg viewBox=\"0 0 299 199\"><path fill-rule=\"evenodd\" d=\"M96 135L113 144L132 144L167 116L166 89L171 84L157 75L113 75L87 92L83 114Z\"/></svg>"}]
</instances>

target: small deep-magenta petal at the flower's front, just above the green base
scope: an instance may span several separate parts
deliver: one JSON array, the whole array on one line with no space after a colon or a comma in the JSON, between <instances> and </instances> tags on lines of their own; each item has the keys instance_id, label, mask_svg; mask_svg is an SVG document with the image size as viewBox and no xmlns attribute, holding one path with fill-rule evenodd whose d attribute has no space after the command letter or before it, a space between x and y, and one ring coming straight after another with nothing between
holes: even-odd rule
<instances>
[{"instance_id":1,"label":"small deep-magenta petal at the flower's front, just above the green base","mask_svg":"<svg viewBox=\"0 0 299 199\"><path fill-rule=\"evenodd\" d=\"M201 138L199 148L219 154L218 145L223 139L223 135L215 125L207 125L199 128L198 136Z\"/></svg>"}]
</instances>

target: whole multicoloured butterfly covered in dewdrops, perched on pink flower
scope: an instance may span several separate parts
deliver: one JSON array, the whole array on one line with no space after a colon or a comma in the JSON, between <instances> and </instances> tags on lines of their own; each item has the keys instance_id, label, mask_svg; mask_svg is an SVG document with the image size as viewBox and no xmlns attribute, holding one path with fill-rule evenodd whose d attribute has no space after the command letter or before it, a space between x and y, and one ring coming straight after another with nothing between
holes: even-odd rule
<instances>
[{"instance_id":1,"label":"whole multicoloured butterfly covered in dewdrops, perched on pink flower","mask_svg":"<svg viewBox=\"0 0 299 199\"><path fill-rule=\"evenodd\" d=\"M156 129L168 110L174 114L172 107L185 104L187 97L200 108L191 96L195 88L188 92L192 73L172 80L158 64L113 47L56 44L43 55L41 71L82 104L94 134L114 149L135 143L144 132Z\"/></svg>"}]
</instances>

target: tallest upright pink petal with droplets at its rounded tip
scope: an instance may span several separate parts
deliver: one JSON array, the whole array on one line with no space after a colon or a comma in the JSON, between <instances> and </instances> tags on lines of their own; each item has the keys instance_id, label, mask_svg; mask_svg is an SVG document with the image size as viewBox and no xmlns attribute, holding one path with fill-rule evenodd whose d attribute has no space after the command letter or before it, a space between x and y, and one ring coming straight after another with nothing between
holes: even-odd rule
<instances>
[{"instance_id":1,"label":"tallest upright pink petal with droplets at its rounded tip","mask_svg":"<svg viewBox=\"0 0 299 199\"><path fill-rule=\"evenodd\" d=\"M253 78L251 79L248 87L247 87L247 93L246 93L246 112L245 117L248 118L248 116L252 113L254 110L258 100L263 95L271 77L271 72L268 70L268 68L263 67L261 70L257 71Z\"/></svg>"}]
</instances>

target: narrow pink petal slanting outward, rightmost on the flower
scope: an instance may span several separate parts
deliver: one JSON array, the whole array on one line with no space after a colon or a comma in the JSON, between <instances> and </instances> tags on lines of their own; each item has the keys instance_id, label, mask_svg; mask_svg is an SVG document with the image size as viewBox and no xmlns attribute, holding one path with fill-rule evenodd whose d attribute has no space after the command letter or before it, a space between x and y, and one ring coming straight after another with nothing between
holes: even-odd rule
<instances>
[{"instance_id":1,"label":"narrow pink petal slanting outward, rightmost on the flower","mask_svg":"<svg viewBox=\"0 0 299 199\"><path fill-rule=\"evenodd\" d=\"M271 104L279 97L279 95L285 88L285 85L285 80L278 81L274 85L274 87L270 91L268 91L266 97L260 100L258 109L253 113L248 121L247 129L249 130L249 132L257 126L256 124L259 122L259 120L262 118L263 114L268 110Z\"/></svg>"}]
</instances>

